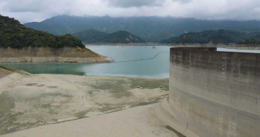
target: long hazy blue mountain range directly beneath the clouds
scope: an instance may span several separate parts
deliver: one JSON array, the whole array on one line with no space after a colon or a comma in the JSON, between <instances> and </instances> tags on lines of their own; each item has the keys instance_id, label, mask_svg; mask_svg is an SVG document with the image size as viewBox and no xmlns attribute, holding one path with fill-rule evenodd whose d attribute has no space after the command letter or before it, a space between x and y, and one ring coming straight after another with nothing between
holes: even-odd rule
<instances>
[{"instance_id":1,"label":"long hazy blue mountain range directly beneath the clouds","mask_svg":"<svg viewBox=\"0 0 260 137\"><path fill-rule=\"evenodd\" d=\"M200 20L195 18L175 17L77 17L59 15L42 22L30 22L26 27L47 31L55 35L73 34L86 29L102 32L126 30L146 42L159 42L178 36L184 32L203 30L232 29L243 32L260 31L260 21Z\"/></svg>"}]
</instances>

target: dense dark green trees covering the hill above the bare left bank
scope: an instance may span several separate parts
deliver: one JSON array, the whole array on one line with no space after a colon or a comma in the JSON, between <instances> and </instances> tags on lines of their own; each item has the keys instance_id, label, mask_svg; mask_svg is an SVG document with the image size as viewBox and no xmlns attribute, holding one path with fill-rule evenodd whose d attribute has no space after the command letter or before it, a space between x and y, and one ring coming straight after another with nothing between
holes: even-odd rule
<instances>
[{"instance_id":1,"label":"dense dark green trees covering the hill above the bare left bank","mask_svg":"<svg viewBox=\"0 0 260 137\"><path fill-rule=\"evenodd\" d=\"M26 28L18 20L0 15L0 47L81 47L82 42L72 35L56 36L47 32Z\"/></svg>"}]
</instances>

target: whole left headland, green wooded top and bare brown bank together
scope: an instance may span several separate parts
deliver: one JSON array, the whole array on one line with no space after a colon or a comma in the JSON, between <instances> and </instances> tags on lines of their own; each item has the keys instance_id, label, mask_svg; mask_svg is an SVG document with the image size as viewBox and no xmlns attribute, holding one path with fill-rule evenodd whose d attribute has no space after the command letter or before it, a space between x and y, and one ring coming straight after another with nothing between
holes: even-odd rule
<instances>
[{"instance_id":1,"label":"whole left headland, green wooded top and bare brown bank together","mask_svg":"<svg viewBox=\"0 0 260 137\"><path fill-rule=\"evenodd\" d=\"M0 62L110 62L70 34L57 36L26 28L0 15Z\"/></svg>"}]
</instances>

